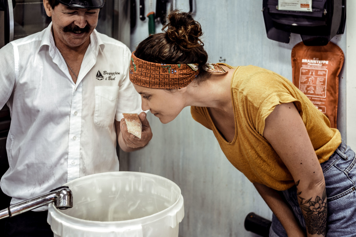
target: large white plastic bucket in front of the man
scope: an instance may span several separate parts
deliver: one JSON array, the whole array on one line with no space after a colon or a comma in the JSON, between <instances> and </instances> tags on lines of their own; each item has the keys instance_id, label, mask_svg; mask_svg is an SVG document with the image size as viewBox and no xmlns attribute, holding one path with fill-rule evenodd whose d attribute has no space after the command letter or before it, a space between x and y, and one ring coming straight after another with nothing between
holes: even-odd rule
<instances>
[{"instance_id":1,"label":"large white plastic bucket in front of the man","mask_svg":"<svg viewBox=\"0 0 356 237\"><path fill-rule=\"evenodd\" d=\"M178 237L184 217L177 184L155 174L107 172L65 184L73 208L48 206L55 237Z\"/></svg>"}]
</instances>

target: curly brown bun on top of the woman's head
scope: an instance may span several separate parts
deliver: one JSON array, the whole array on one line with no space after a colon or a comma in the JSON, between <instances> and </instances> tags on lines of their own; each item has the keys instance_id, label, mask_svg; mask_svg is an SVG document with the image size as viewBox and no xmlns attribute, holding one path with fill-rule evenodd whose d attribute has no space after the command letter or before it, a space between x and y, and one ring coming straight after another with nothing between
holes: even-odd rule
<instances>
[{"instance_id":1,"label":"curly brown bun on top of the woman's head","mask_svg":"<svg viewBox=\"0 0 356 237\"><path fill-rule=\"evenodd\" d=\"M199 39L203 35L200 23L187 12L179 12L179 10L169 12L167 24L162 30L168 39L176 43L182 50L204 45Z\"/></svg>"}]
</instances>

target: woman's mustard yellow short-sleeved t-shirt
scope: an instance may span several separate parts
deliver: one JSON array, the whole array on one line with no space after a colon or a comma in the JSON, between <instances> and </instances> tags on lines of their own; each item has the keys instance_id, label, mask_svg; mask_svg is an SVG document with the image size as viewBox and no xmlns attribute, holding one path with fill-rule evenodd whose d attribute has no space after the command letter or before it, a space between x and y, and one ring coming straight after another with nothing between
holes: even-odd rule
<instances>
[{"instance_id":1,"label":"woman's mustard yellow short-sleeved t-shirt","mask_svg":"<svg viewBox=\"0 0 356 237\"><path fill-rule=\"evenodd\" d=\"M229 68L229 65L224 64ZM307 128L320 163L341 143L339 130L292 82L257 66L238 66L231 80L235 112L235 138L227 142L216 129L206 107L191 107L192 117L213 130L227 159L253 183L276 190L294 185L292 175L262 136L265 119L278 104L293 102Z\"/></svg>"}]
</instances>

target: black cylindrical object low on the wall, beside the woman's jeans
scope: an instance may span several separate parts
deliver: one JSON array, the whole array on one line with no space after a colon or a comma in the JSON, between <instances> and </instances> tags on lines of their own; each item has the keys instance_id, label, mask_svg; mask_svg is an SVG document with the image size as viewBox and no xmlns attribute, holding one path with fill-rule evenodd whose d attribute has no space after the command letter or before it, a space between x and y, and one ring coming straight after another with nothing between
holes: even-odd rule
<instances>
[{"instance_id":1,"label":"black cylindrical object low on the wall, beside the woman's jeans","mask_svg":"<svg viewBox=\"0 0 356 237\"><path fill-rule=\"evenodd\" d=\"M269 236L271 224L272 221L255 214L255 212L248 213L245 218L245 229L263 237Z\"/></svg>"}]
</instances>

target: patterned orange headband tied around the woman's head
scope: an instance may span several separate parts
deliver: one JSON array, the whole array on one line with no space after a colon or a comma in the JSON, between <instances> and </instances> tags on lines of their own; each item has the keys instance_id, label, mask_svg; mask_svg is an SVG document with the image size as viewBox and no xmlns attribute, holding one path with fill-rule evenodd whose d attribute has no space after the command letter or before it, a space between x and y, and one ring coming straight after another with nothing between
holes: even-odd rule
<instances>
[{"instance_id":1,"label":"patterned orange headband tied around the woman's head","mask_svg":"<svg viewBox=\"0 0 356 237\"><path fill-rule=\"evenodd\" d=\"M151 63L135 56L130 61L130 81L138 86L154 89L177 89L188 86L199 74L198 64ZM226 71L218 64L206 64L203 70L211 72Z\"/></svg>"}]
</instances>

